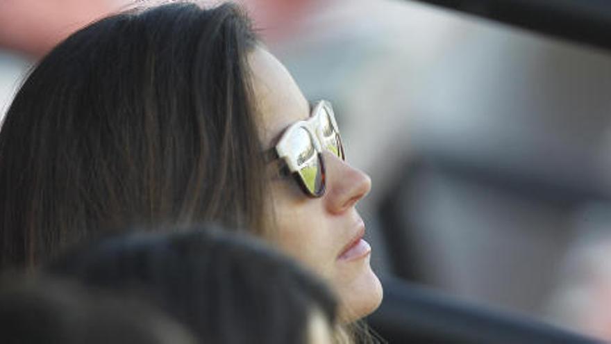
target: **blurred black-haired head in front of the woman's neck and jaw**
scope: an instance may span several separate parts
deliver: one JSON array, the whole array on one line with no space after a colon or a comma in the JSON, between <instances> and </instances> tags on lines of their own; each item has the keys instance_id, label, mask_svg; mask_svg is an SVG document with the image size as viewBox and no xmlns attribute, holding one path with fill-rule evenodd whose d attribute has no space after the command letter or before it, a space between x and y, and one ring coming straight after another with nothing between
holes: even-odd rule
<instances>
[{"instance_id":1,"label":"blurred black-haired head in front of the woman's neck and jaw","mask_svg":"<svg viewBox=\"0 0 611 344\"><path fill-rule=\"evenodd\" d=\"M254 238L195 229L105 240L47 272L144 295L201 343L307 343L316 311L333 334L335 297L316 277Z\"/></svg>"}]
</instances>

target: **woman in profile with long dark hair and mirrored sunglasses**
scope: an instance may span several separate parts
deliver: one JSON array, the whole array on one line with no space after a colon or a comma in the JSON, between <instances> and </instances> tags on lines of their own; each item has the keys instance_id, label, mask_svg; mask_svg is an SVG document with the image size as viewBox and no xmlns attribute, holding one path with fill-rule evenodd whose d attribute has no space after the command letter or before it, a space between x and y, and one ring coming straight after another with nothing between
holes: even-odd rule
<instances>
[{"instance_id":1,"label":"woman in profile with long dark hair and mirrored sunglasses","mask_svg":"<svg viewBox=\"0 0 611 344\"><path fill-rule=\"evenodd\" d=\"M330 281L342 319L382 297L333 112L308 104L232 5L174 3L78 31L33 70L0 131L1 265L140 225L214 220ZM83 230L87 229L87 231Z\"/></svg>"}]
</instances>

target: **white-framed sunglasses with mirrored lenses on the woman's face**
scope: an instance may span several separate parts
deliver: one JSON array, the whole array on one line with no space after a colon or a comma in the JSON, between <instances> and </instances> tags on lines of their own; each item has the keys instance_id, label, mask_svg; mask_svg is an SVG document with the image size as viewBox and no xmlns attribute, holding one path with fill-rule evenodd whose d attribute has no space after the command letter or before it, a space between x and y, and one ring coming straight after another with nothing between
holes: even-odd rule
<instances>
[{"instance_id":1,"label":"white-framed sunglasses with mirrored lenses on the woman's face","mask_svg":"<svg viewBox=\"0 0 611 344\"><path fill-rule=\"evenodd\" d=\"M346 160L333 108L321 100L308 120L295 122L284 131L276 146L267 151L266 160L282 161L281 174L292 174L305 195L321 197L325 192L323 149Z\"/></svg>"}]
</instances>

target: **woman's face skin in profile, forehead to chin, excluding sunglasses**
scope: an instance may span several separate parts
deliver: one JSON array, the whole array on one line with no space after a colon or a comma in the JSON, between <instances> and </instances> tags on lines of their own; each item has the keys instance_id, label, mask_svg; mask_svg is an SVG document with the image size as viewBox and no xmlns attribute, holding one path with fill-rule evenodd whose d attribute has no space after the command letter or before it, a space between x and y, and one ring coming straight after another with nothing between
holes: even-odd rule
<instances>
[{"instance_id":1,"label":"woman's face skin in profile, forehead to chin, excluding sunglasses","mask_svg":"<svg viewBox=\"0 0 611 344\"><path fill-rule=\"evenodd\" d=\"M260 136L269 148L287 126L310 117L310 105L265 49L251 52L249 62ZM320 198L307 197L292 177L271 180L274 211L267 213L275 216L269 220L277 231L269 239L330 281L342 301L342 319L349 322L367 316L382 300L382 286L369 265L369 245L360 240L365 225L355 209L369 193L371 179L330 151L323 158L326 192Z\"/></svg>"}]
</instances>

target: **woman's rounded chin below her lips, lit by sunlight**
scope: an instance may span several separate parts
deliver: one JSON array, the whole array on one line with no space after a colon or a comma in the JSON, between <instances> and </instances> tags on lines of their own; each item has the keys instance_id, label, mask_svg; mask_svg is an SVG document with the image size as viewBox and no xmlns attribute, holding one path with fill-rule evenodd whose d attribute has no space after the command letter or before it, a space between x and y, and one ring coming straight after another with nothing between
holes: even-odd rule
<instances>
[{"instance_id":1,"label":"woman's rounded chin below her lips, lit by sunlight","mask_svg":"<svg viewBox=\"0 0 611 344\"><path fill-rule=\"evenodd\" d=\"M369 264L361 274L349 284L337 286L340 295L340 319L344 323L354 322L373 313L383 297L383 288L380 279L376 276Z\"/></svg>"}]
</instances>

